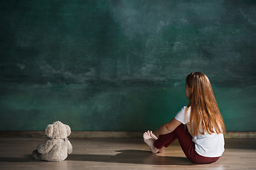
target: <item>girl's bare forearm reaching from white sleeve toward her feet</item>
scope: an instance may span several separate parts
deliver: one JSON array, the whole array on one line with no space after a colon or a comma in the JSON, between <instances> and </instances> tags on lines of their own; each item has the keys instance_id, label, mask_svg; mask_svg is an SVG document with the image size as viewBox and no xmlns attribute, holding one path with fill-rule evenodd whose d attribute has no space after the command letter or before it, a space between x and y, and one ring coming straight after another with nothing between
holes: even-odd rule
<instances>
[{"instance_id":1,"label":"girl's bare forearm reaching from white sleeve toward her feet","mask_svg":"<svg viewBox=\"0 0 256 170\"><path fill-rule=\"evenodd\" d=\"M169 123L161 125L161 127L154 132L154 135L166 135L174 131L178 127L178 125L181 125L181 122L173 118Z\"/></svg>"}]
</instances>

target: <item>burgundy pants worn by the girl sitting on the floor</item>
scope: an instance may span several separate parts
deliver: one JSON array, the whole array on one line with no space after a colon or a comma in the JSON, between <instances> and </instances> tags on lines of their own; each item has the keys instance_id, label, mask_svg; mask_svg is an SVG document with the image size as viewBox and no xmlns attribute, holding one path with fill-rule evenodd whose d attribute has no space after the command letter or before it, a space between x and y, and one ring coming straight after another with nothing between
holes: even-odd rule
<instances>
[{"instance_id":1,"label":"burgundy pants worn by the girl sitting on the floor","mask_svg":"<svg viewBox=\"0 0 256 170\"><path fill-rule=\"evenodd\" d=\"M166 135L159 135L158 140L154 142L154 146L157 149L162 147L168 147L174 140L178 138L178 142L188 159L196 164L210 164L216 162L220 157L203 157L195 150L195 143L192 141L192 137L183 124L179 125L173 132Z\"/></svg>"}]
</instances>

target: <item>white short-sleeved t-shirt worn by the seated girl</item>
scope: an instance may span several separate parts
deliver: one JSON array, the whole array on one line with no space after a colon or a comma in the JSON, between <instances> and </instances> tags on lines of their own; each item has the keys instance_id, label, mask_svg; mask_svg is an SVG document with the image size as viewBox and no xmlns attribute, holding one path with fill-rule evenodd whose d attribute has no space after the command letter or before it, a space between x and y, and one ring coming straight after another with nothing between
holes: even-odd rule
<instances>
[{"instance_id":1,"label":"white short-sleeved t-shirt worn by the seated girl","mask_svg":"<svg viewBox=\"0 0 256 170\"><path fill-rule=\"evenodd\" d=\"M190 114L191 108L188 108L188 113L185 118L186 106L181 109L175 116L175 119L187 126L188 132L191 134L190 130ZM195 142L195 149L198 154L203 157L220 157L224 152L224 137L223 134L205 132L204 135L192 135L192 141Z\"/></svg>"}]
</instances>

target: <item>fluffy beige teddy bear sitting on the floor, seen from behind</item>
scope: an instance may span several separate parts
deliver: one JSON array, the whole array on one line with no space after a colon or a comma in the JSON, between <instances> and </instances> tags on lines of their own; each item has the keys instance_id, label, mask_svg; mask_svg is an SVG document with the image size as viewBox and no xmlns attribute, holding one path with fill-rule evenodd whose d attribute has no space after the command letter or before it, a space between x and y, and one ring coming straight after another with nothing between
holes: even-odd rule
<instances>
[{"instance_id":1,"label":"fluffy beige teddy bear sitting on the floor, seen from behind","mask_svg":"<svg viewBox=\"0 0 256 170\"><path fill-rule=\"evenodd\" d=\"M48 140L33 151L33 159L61 162L71 154L73 147L68 140L71 130L68 125L56 121L52 125L46 127L46 135Z\"/></svg>"}]
</instances>

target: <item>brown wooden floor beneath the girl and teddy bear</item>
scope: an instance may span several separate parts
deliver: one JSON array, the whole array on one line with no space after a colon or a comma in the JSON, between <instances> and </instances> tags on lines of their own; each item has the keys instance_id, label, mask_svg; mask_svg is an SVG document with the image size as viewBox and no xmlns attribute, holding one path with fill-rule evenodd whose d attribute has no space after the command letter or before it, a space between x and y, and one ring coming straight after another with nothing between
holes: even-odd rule
<instances>
[{"instance_id":1,"label":"brown wooden floor beneath the girl and teddy bear","mask_svg":"<svg viewBox=\"0 0 256 170\"><path fill-rule=\"evenodd\" d=\"M223 156L213 164L186 159L178 142L151 154L142 139L70 139L73 152L63 162L41 162L31 152L45 138L0 138L0 169L256 169L256 139L226 139Z\"/></svg>"}]
</instances>

